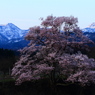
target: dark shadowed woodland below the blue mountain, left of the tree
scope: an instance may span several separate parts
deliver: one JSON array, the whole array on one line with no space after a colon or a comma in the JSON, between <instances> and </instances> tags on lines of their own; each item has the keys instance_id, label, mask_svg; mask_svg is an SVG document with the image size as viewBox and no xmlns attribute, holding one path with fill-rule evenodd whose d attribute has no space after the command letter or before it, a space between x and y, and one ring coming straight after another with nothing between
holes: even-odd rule
<instances>
[{"instance_id":1,"label":"dark shadowed woodland below the blue mountain, left of the tree","mask_svg":"<svg viewBox=\"0 0 95 95\"><path fill-rule=\"evenodd\" d=\"M10 74L19 53L13 50L0 49L0 74Z\"/></svg>"}]
</instances>

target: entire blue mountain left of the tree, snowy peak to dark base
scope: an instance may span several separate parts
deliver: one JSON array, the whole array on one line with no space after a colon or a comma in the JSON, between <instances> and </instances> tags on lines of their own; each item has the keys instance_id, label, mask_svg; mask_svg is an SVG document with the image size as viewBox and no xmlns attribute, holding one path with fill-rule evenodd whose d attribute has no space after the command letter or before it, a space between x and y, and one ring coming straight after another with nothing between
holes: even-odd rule
<instances>
[{"instance_id":1,"label":"entire blue mountain left of the tree, snowy peak to dark base","mask_svg":"<svg viewBox=\"0 0 95 95\"><path fill-rule=\"evenodd\" d=\"M24 36L29 30L22 30L12 23L0 25L0 48L20 49L28 44Z\"/></svg>"}]
</instances>

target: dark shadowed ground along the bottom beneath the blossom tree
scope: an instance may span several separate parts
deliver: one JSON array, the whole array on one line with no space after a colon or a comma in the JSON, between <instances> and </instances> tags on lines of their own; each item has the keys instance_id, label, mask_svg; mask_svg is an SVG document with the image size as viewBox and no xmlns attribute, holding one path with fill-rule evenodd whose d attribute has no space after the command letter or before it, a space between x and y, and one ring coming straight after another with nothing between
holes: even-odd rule
<instances>
[{"instance_id":1,"label":"dark shadowed ground along the bottom beneath the blossom tree","mask_svg":"<svg viewBox=\"0 0 95 95\"><path fill-rule=\"evenodd\" d=\"M15 85L15 80L9 78L0 81L0 95L95 95L95 85L81 87L77 84L59 84L56 86L56 94L53 94L48 80Z\"/></svg>"}]
</instances>

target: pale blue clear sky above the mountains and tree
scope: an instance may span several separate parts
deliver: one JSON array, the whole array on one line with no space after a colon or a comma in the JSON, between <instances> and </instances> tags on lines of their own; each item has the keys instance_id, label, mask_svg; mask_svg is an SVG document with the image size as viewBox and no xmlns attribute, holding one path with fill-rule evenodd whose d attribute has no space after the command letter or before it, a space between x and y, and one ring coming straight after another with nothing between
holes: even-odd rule
<instances>
[{"instance_id":1,"label":"pale blue clear sky above the mountains and tree","mask_svg":"<svg viewBox=\"0 0 95 95\"><path fill-rule=\"evenodd\" d=\"M95 22L95 0L0 0L0 24L28 29L48 15L77 17L84 28Z\"/></svg>"}]
</instances>

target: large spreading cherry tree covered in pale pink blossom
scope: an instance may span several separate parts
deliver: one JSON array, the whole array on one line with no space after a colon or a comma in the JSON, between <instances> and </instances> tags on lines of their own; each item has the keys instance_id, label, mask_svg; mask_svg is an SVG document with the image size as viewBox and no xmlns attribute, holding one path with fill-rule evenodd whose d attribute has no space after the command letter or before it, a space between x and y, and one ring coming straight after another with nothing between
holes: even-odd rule
<instances>
[{"instance_id":1,"label":"large spreading cherry tree covered in pale pink blossom","mask_svg":"<svg viewBox=\"0 0 95 95\"><path fill-rule=\"evenodd\" d=\"M64 82L95 83L95 60L74 50L87 48L92 41L77 26L78 19L48 16L41 26L31 27L19 61L12 69L16 83L48 78L52 84Z\"/></svg>"}]
</instances>

